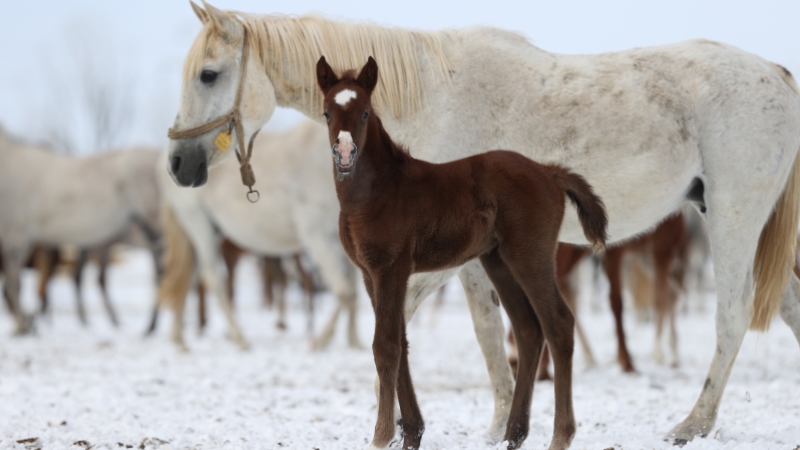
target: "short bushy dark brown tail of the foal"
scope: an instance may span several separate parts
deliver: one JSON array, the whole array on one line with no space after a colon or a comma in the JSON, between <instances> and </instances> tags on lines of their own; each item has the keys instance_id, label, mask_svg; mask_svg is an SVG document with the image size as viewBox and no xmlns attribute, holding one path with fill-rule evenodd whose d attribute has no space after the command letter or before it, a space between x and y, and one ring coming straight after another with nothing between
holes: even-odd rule
<instances>
[{"instance_id":1,"label":"short bushy dark brown tail of the foal","mask_svg":"<svg viewBox=\"0 0 800 450\"><path fill-rule=\"evenodd\" d=\"M578 209L578 219L581 221L586 239L592 243L595 250L605 248L608 239L606 233L608 217L603 200L594 193L592 186L582 176L561 166L551 167L553 178Z\"/></svg>"}]
</instances>

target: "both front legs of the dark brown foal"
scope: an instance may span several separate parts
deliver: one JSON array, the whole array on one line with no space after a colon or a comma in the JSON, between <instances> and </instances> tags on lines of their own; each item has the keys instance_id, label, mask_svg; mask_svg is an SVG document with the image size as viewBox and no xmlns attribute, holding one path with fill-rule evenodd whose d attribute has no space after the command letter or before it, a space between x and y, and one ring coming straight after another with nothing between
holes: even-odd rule
<instances>
[{"instance_id":1,"label":"both front legs of the dark brown foal","mask_svg":"<svg viewBox=\"0 0 800 450\"><path fill-rule=\"evenodd\" d=\"M398 267L402 266L402 267ZM408 361L402 364L405 324L403 304L406 285L410 275L410 264L396 264L393 267L365 276L368 287L372 285L371 297L375 309L375 336L372 353L378 371L380 388L378 392L378 420L372 448L386 448L394 437L394 398L400 396L400 410L403 415L403 432L406 444L417 448L422 437L422 416L414 396ZM398 390L398 379L400 389ZM405 446L405 448L409 448Z\"/></svg>"}]
</instances>

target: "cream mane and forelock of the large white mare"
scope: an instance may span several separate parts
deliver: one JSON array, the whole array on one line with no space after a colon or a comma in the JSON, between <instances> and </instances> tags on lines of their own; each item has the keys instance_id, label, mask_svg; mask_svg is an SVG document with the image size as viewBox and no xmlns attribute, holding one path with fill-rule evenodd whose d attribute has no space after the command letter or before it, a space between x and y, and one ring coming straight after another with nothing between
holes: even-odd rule
<instances>
[{"instance_id":1,"label":"cream mane and forelock of the large white mare","mask_svg":"<svg viewBox=\"0 0 800 450\"><path fill-rule=\"evenodd\" d=\"M453 39L449 31L337 22L316 15L228 14L246 28L250 51L258 56L273 83L279 83L284 73L298 74L306 80L304 86L310 89L295 94L310 110L321 111L322 106L322 94L316 88L316 64L320 56L325 56L331 67L340 71L363 66L369 56L375 58L380 77L372 103L379 112L388 107L397 117L413 114L422 107L425 84L421 78L425 63L443 83L450 83L446 48ZM189 51L184 77L199 70L206 47L215 36L213 24L207 24Z\"/></svg>"}]
</instances>

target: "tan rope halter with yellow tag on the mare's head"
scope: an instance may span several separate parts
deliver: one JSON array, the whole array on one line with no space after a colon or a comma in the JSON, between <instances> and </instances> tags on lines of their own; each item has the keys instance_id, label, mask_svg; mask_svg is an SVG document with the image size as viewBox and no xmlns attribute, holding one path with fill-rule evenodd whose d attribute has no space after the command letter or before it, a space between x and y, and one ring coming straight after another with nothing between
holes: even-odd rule
<instances>
[{"instance_id":1,"label":"tan rope halter with yellow tag on the mare's head","mask_svg":"<svg viewBox=\"0 0 800 450\"><path fill-rule=\"evenodd\" d=\"M239 73L239 86L236 88L236 100L233 102L233 108L231 108L231 110L226 114L194 128L188 128L186 130L176 130L174 128L170 128L167 132L167 137L170 139L193 138L200 136L201 134L208 133L209 131L222 125L228 124L228 130L220 132L215 140L217 147L224 152L230 145L231 131L235 129L236 140L239 144L239 148L236 150L236 159L239 160L239 171L242 175L242 183L250 189L250 191L247 193L247 199L251 203L255 203L258 201L261 195L258 193L258 191L253 190L253 185L256 183L256 176L253 173L253 167L250 165L250 157L253 156L253 141L255 140L256 135L258 135L258 131L253 133L253 136L250 137L250 142L247 146L247 151L245 152L244 126L242 125L242 111L240 105L242 103L244 75L247 71L247 57L249 52L247 49L247 28L243 27L242 29L244 30L244 35L242 37L242 68L241 72ZM223 146L225 148L223 148ZM255 200L252 200L251 195L254 193L256 194Z\"/></svg>"}]
</instances>

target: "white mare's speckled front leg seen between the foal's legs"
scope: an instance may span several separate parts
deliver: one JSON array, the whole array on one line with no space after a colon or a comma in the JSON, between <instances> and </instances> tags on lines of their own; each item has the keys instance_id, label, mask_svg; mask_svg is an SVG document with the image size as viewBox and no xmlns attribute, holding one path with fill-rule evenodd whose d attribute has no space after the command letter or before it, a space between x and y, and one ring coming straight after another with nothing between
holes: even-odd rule
<instances>
[{"instance_id":1,"label":"white mare's speckled front leg seen between the foal's legs","mask_svg":"<svg viewBox=\"0 0 800 450\"><path fill-rule=\"evenodd\" d=\"M465 264L458 273L458 278L467 295L475 337L486 359L486 368L492 383L494 416L486 437L492 442L499 442L506 432L511 398L514 395L514 377L504 345L505 326L500 314L500 302L492 282L477 259Z\"/></svg>"}]
</instances>

